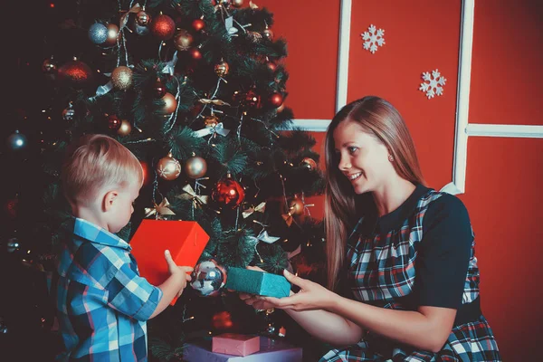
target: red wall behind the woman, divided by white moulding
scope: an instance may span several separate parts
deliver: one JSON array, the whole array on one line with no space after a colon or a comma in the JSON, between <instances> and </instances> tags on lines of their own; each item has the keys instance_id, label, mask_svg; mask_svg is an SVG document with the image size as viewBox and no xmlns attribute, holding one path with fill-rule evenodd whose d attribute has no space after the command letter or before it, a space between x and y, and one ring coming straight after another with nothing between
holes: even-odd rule
<instances>
[{"instance_id":1,"label":"red wall behind the woman, divided by white moulding","mask_svg":"<svg viewBox=\"0 0 543 362\"><path fill-rule=\"evenodd\" d=\"M412 132L429 186L452 181L462 2L352 2L348 101L367 94L390 100ZM272 30L288 42L286 105L296 119L331 119L335 111L340 1L261 0ZM475 0L470 123L543 125L543 5L538 0ZM375 54L362 48L370 24L385 29ZM441 97L418 90L423 71L447 79ZM314 132L322 155L324 133ZM543 140L468 140L465 194L481 268L482 309L503 360L533 360L543 271ZM311 214L322 215L322 197Z\"/></svg>"}]
</instances>

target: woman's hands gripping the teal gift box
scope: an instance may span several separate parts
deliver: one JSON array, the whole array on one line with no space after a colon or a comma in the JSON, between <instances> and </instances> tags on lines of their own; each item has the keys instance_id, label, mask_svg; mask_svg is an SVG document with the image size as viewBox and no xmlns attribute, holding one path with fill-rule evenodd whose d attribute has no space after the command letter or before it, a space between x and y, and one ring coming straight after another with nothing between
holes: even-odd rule
<instances>
[{"instance_id":1,"label":"woman's hands gripping the teal gift box","mask_svg":"<svg viewBox=\"0 0 543 362\"><path fill-rule=\"evenodd\" d=\"M260 268L249 267L252 270ZM338 295L322 287L316 282L308 281L291 274L289 271L283 271L285 278L294 285L300 287L298 293L292 293L290 297L274 298L261 297L251 294L240 293L240 298L246 304L252 305L258 310L268 310L270 308L279 308L281 310L330 310L333 308Z\"/></svg>"}]
</instances>

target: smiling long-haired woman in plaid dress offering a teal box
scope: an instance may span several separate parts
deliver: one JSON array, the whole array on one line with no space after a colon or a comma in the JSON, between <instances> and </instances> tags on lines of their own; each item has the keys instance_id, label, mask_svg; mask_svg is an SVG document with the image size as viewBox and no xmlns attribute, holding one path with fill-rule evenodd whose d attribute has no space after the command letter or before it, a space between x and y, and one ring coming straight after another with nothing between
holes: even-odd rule
<instances>
[{"instance_id":1,"label":"smiling long-haired woman in plaid dress offering a teal box","mask_svg":"<svg viewBox=\"0 0 543 362\"><path fill-rule=\"evenodd\" d=\"M285 271L298 293L240 297L338 347L321 361L500 361L468 212L424 186L398 111L356 100L332 119L325 147L329 288Z\"/></svg>"}]
</instances>

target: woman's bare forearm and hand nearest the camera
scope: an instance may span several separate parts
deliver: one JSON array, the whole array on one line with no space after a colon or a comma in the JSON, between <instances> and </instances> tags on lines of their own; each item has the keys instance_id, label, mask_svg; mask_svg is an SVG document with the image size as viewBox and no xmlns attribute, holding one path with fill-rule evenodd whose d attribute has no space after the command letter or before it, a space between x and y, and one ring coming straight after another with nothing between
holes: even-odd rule
<instances>
[{"instance_id":1,"label":"woman's bare forearm and hand nearest the camera","mask_svg":"<svg viewBox=\"0 0 543 362\"><path fill-rule=\"evenodd\" d=\"M420 307L416 311L410 311L374 307L357 300L340 297L321 285L301 279L288 271L285 271L284 275L291 283L298 285L301 291L291 297L281 299L257 298L262 300L261 305L266 305L267 308L275 307L287 310L287 313L293 319L297 320L310 334L318 338L320 338L317 335L319 330L329 329L329 325L332 323L334 323L334 329L327 330L327 334L343 333L343 330L340 329L341 324L338 321L344 319L349 326L348 334L351 335L352 333L352 337L361 337L362 330L368 329L386 338L395 339L415 348L436 352L443 348L443 344L451 333L456 316L456 310L448 308ZM330 315L335 315L335 317L328 319L326 317L328 314L309 314L315 310L326 311ZM304 315L305 312L308 314ZM301 322L299 319L301 319ZM353 324L357 326L357 329L352 327ZM359 331L359 336L354 333L355 330Z\"/></svg>"}]
</instances>

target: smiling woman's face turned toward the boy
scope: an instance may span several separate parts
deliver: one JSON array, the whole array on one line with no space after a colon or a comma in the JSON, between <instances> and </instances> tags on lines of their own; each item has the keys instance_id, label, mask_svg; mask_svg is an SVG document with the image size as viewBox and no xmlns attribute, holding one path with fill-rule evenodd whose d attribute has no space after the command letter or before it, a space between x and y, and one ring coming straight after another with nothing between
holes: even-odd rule
<instances>
[{"instance_id":1,"label":"smiling woman's face turned toward the boy","mask_svg":"<svg viewBox=\"0 0 543 362\"><path fill-rule=\"evenodd\" d=\"M356 121L340 122L333 136L339 171L348 178L356 194L378 191L394 175L386 146Z\"/></svg>"}]
</instances>

